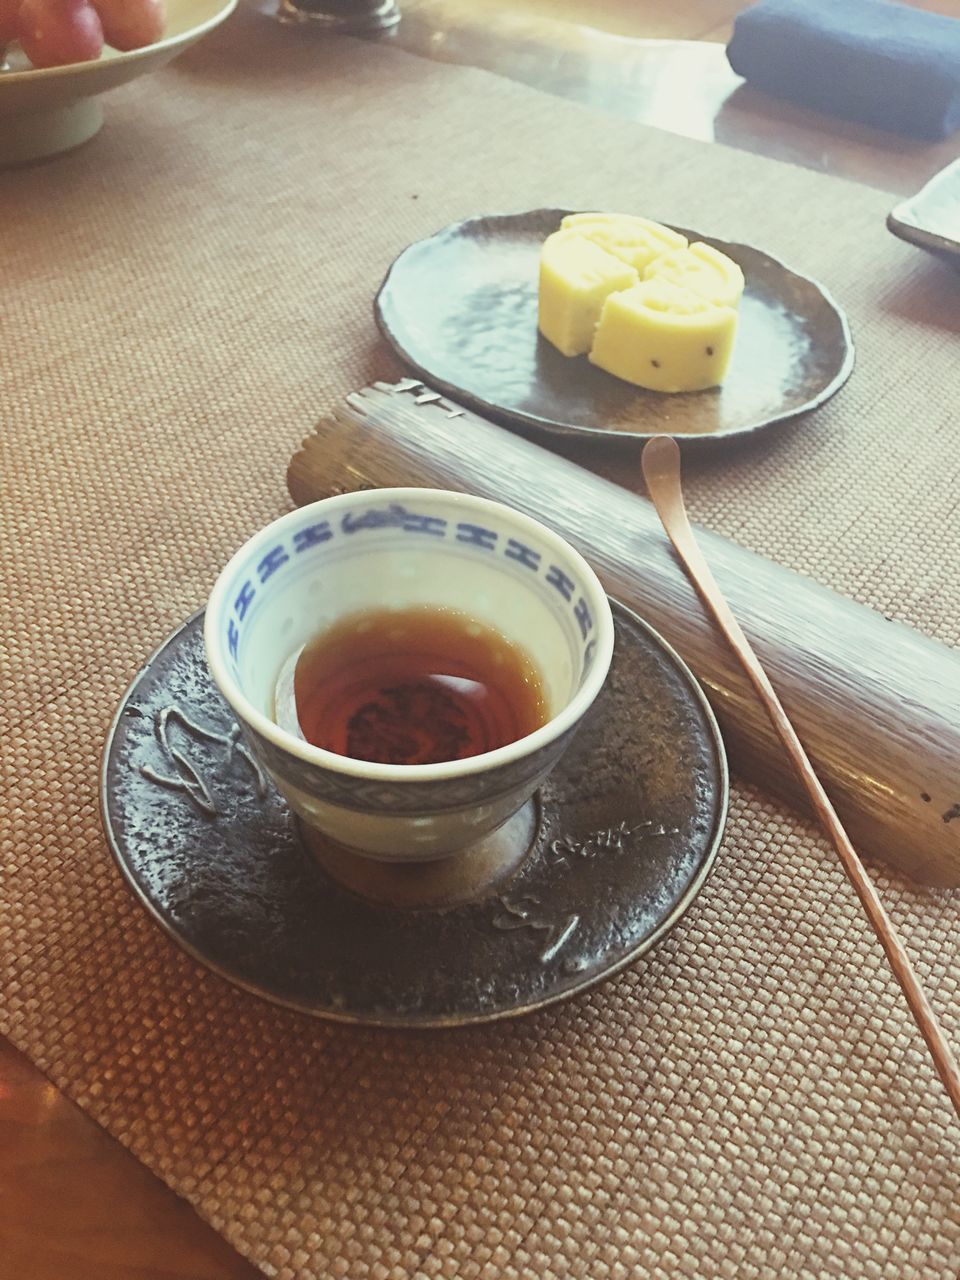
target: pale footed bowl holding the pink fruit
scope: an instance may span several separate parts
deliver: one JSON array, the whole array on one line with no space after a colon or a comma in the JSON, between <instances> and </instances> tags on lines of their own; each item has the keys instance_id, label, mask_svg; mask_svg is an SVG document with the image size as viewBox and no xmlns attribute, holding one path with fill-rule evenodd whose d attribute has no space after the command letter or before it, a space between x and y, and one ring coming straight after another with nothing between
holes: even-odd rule
<instances>
[{"instance_id":1,"label":"pale footed bowl holding the pink fruit","mask_svg":"<svg viewBox=\"0 0 960 1280\"><path fill-rule=\"evenodd\" d=\"M168 0L163 40L131 52L105 47L96 61L35 68L10 45L0 70L0 165L58 155L104 123L99 95L156 70L219 26L237 0Z\"/></svg>"}]
</instances>

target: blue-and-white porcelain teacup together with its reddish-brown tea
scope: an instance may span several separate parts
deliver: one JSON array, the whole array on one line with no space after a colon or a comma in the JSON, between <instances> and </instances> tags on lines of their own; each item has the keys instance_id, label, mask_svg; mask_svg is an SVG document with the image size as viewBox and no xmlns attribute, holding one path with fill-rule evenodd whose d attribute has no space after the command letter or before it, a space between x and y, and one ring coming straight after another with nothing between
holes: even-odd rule
<instances>
[{"instance_id":1,"label":"blue-and-white porcelain teacup together with its reddish-brown tea","mask_svg":"<svg viewBox=\"0 0 960 1280\"><path fill-rule=\"evenodd\" d=\"M556 765L613 618L564 539L500 503L376 489L255 534L206 611L210 671L312 832L384 861L476 845Z\"/></svg>"}]
</instances>

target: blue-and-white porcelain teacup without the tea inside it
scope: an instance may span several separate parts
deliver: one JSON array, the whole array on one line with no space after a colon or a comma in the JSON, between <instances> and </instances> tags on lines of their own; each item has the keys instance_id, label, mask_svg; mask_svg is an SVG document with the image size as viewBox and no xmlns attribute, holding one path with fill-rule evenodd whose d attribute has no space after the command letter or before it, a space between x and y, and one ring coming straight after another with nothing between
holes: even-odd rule
<instances>
[{"instance_id":1,"label":"blue-and-white porcelain teacup without the tea inside it","mask_svg":"<svg viewBox=\"0 0 960 1280\"><path fill-rule=\"evenodd\" d=\"M433 605L521 646L549 719L507 746L442 764L376 764L275 722L280 672L340 618ZM607 595L586 561L529 516L436 489L374 489L293 511L255 534L206 609L214 680L292 809L371 858L429 861L500 827L557 764L613 653Z\"/></svg>"}]
</instances>

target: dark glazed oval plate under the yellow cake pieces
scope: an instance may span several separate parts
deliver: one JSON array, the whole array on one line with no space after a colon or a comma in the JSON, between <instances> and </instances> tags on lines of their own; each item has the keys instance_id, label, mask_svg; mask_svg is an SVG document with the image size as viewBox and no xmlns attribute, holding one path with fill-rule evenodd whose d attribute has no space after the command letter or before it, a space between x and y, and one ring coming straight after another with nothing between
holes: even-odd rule
<instances>
[{"instance_id":1,"label":"dark glazed oval plate under the yellow cake pieces","mask_svg":"<svg viewBox=\"0 0 960 1280\"><path fill-rule=\"evenodd\" d=\"M744 270L740 332L722 387L666 396L631 387L536 328L540 246L566 210L472 218L406 248L375 314L388 342L431 387L508 425L567 435L744 435L806 413L850 376L846 317L814 280L749 244L677 228Z\"/></svg>"}]
</instances>

